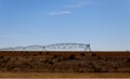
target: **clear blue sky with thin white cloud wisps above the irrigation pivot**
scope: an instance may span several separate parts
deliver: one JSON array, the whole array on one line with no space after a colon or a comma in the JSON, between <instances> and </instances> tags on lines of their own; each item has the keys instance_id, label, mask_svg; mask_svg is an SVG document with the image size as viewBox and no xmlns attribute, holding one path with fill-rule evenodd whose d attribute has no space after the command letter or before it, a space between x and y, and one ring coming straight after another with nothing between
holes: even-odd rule
<instances>
[{"instance_id":1,"label":"clear blue sky with thin white cloud wisps above the irrigation pivot","mask_svg":"<svg viewBox=\"0 0 130 79\"><path fill-rule=\"evenodd\" d=\"M0 0L0 48L88 40L130 50L130 0Z\"/></svg>"}]
</instances>

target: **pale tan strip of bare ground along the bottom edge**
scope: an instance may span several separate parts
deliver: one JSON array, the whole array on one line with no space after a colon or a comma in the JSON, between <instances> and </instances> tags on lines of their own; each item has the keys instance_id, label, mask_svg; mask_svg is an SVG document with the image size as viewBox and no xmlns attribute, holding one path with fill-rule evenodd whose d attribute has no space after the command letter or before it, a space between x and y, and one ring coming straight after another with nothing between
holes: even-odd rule
<instances>
[{"instance_id":1,"label":"pale tan strip of bare ground along the bottom edge","mask_svg":"<svg viewBox=\"0 0 130 79\"><path fill-rule=\"evenodd\" d=\"M0 73L0 78L130 78L130 73Z\"/></svg>"}]
</instances>

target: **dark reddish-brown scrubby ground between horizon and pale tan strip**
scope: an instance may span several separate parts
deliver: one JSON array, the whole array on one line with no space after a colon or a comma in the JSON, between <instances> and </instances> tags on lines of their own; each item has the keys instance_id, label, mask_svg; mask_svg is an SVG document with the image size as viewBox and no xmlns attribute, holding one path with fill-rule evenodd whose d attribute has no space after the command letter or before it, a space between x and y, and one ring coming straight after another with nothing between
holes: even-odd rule
<instances>
[{"instance_id":1,"label":"dark reddish-brown scrubby ground between horizon and pale tan strip","mask_svg":"<svg viewBox=\"0 0 130 79\"><path fill-rule=\"evenodd\" d=\"M99 74L98 76L123 73L128 77L130 52L123 52L121 55L118 52L0 52L0 77L2 74L15 73L40 75L90 73Z\"/></svg>"}]
</instances>

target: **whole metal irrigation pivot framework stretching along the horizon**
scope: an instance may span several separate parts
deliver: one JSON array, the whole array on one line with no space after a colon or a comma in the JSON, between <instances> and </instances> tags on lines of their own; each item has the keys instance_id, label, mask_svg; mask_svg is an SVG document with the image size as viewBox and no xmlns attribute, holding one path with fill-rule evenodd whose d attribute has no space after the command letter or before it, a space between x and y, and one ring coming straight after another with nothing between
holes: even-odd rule
<instances>
[{"instance_id":1,"label":"whole metal irrigation pivot framework stretching along the horizon","mask_svg":"<svg viewBox=\"0 0 130 79\"><path fill-rule=\"evenodd\" d=\"M91 51L90 44L83 43L56 43L49 45L29 45L4 49L4 51Z\"/></svg>"}]
</instances>

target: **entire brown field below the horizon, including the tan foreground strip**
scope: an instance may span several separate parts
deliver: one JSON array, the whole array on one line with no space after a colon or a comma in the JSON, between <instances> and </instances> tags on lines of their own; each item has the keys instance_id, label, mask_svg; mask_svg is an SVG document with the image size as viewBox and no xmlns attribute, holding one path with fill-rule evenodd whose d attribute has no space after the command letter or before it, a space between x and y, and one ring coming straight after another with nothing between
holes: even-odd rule
<instances>
[{"instance_id":1,"label":"entire brown field below the horizon, including the tan foreground strip","mask_svg":"<svg viewBox=\"0 0 130 79\"><path fill-rule=\"evenodd\" d=\"M0 51L0 78L130 78L129 51Z\"/></svg>"}]
</instances>

